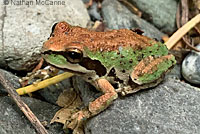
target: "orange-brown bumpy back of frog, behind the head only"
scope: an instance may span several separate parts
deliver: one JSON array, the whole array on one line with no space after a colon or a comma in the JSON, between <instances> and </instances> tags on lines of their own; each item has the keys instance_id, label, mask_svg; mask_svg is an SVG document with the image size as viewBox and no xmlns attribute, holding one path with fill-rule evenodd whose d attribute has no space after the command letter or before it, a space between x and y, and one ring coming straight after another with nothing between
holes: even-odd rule
<instances>
[{"instance_id":1,"label":"orange-brown bumpy back of frog, behind the head only","mask_svg":"<svg viewBox=\"0 0 200 134\"><path fill-rule=\"evenodd\" d=\"M118 50L119 47L131 47L133 50L141 50L156 43L155 40L128 29L95 32L84 28L74 28L73 33L77 33L76 30L79 31L79 34L72 34L72 38L81 42L91 51L114 51Z\"/></svg>"}]
</instances>

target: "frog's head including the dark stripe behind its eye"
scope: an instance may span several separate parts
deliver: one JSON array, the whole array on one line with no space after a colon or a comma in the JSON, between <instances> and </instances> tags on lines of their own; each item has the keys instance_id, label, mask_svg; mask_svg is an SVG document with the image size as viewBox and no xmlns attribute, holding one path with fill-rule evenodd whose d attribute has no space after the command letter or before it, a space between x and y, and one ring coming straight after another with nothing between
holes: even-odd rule
<instances>
[{"instance_id":1,"label":"frog's head including the dark stripe behind its eye","mask_svg":"<svg viewBox=\"0 0 200 134\"><path fill-rule=\"evenodd\" d=\"M84 46L78 40L80 39L78 37L79 28L74 28L66 22L55 24L52 28L51 37L43 45L43 58L57 68L74 73L95 72L95 69L100 67L100 63L87 58L84 53Z\"/></svg>"}]
</instances>

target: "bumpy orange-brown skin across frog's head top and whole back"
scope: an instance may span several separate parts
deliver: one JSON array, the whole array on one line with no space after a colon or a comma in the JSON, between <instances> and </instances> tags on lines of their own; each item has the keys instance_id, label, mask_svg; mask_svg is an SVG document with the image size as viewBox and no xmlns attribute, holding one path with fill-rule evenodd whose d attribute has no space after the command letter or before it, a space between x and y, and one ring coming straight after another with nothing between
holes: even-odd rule
<instances>
[{"instance_id":1,"label":"bumpy orange-brown skin across frog's head top and whole back","mask_svg":"<svg viewBox=\"0 0 200 134\"><path fill-rule=\"evenodd\" d=\"M66 22L58 23L52 35L54 37L45 42L44 51L65 51L71 47L76 47L82 51L84 51L84 47L87 47L93 52L115 51L119 47L142 50L156 43L154 40L128 29L95 32L78 26L71 26Z\"/></svg>"}]
</instances>

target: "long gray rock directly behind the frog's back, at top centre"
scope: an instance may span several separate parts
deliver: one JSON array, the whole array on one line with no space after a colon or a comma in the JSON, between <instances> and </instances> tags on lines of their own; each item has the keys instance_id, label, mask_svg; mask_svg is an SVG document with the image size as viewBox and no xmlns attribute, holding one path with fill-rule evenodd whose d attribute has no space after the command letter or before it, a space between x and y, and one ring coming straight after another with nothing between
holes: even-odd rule
<instances>
[{"instance_id":1,"label":"long gray rock directly behind the frog's back, at top centre","mask_svg":"<svg viewBox=\"0 0 200 134\"><path fill-rule=\"evenodd\" d=\"M134 15L127 7L117 0L104 0L102 3L102 15L110 29L140 28L143 35L161 40L164 35L150 23Z\"/></svg>"}]
</instances>

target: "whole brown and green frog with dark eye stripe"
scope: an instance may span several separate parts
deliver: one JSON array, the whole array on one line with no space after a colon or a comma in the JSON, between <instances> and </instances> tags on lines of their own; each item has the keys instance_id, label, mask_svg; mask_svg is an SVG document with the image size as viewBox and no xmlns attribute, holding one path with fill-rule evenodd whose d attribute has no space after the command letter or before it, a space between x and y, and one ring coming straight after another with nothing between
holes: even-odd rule
<instances>
[{"instance_id":1,"label":"whole brown and green frog with dark eye stripe","mask_svg":"<svg viewBox=\"0 0 200 134\"><path fill-rule=\"evenodd\" d=\"M104 111L119 95L157 86L176 64L165 44L140 30L96 32L64 21L52 27L42 56L50 65L81 76L102 92L72 116L69 126Z\"/></svg>"}]
</instances>

